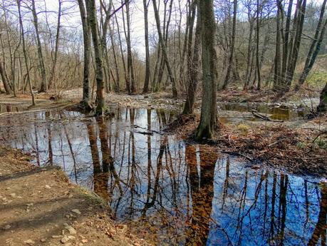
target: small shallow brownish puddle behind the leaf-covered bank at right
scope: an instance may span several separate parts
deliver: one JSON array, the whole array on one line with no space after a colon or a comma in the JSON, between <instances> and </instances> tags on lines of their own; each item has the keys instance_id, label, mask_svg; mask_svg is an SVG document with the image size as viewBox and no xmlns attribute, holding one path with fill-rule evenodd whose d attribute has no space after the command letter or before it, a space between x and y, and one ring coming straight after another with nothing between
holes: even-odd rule
<instances>
[{"instance_id":1,"label":"small shallow brownish puddle behind the leaf-covered bank at right","mask_svg":"<svg viewBox=\"0 0 327 246\"><path fill-rule=\"evenodd\" d=\"M306 107L296 108L295 106L286 105L265 105L262 103L219 103L222 111L250 112L256 110L258 113L269 116L273 120L279 121L298 121L303 119L310 109ZM258 118L251 118L252 121Z\"/></svg>"}]
</instances>

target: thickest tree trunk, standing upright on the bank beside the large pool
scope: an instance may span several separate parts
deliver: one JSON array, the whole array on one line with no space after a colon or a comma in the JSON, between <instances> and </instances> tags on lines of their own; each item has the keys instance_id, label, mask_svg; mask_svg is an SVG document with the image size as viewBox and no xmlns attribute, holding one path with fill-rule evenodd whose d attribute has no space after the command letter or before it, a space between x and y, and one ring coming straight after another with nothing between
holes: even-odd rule
<instances>
[{"instance_id":1,"label":"thickest tree trunk, standing upright on the bank beside the large pool","mask_svg":"<svg viewBox=\"0 0 327 246\"><path fill-rule=\"evenodd\" d=\"M199 2L202 36L202 108L195 138L212 138L217 128L217 54L213 0Z\"/></svg>"}]
</instances>

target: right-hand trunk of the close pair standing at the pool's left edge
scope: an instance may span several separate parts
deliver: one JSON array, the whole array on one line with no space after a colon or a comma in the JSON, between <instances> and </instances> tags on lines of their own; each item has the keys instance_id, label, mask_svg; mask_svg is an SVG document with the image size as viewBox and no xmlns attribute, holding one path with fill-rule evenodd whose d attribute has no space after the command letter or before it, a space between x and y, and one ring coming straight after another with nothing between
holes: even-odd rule
<instances>
[{"instance_id":1,"label":"right-hand trunk of the close pair standing at the pool's left edge","mask_svg":"<svg viewBox=\"0 0 327 246\"><path fill-rule=\"evenodd\" d=\"M105 108L104 85L103 85L103 53L98 33L98 21L96 16L95 0L88 1L88 17L90 19L90 30L92 32L94 54L95 54L95 79L96 79L96 101L95 116L103 116Z\"/></svg>"}]
</instances>

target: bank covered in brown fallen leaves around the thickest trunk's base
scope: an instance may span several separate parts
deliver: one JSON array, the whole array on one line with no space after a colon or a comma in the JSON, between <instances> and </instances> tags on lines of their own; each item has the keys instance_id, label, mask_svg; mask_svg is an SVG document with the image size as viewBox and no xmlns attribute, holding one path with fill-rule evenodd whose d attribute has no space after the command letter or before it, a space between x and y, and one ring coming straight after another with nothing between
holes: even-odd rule
<instances>
[{"instance_id":1,"label":"bank covered in brown fallen leaves around the thickest trunk's base","mask_svg":"<svg viewBox=\"0 0 327 246\"><path fill-rule=\"evenodd\" d=\"M315 122L316 121L316 122ZM311 123L326 121L326 116ZM174 133L188 139L199 124L199 116L174 128ZM221 124L222 125L222 124ZM327 177L327 135L318 128L289 128L282 123L266 126L223 125L213 140L219 150L248 160L285 168L291 173ZM317 136L320 135L318 138ZM316 140L315 140L316 138Z\"/></svg>"}]
</instances>

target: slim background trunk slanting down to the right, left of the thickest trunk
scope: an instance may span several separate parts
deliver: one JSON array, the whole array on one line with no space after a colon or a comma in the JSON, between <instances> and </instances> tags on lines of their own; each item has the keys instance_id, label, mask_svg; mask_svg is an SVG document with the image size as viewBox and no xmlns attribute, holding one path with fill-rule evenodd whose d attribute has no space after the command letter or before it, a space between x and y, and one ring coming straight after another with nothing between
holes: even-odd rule
<instances>
[{"instance_id":1,"label":"slim background trunk slanting down to the right, left of the thickest trunk","mask_svg":"<svg viewBox=\"0 0 327 246\"><path fill-rule=\"evenodd\" d=\"M167 48L165 46L165 40L162 37L162 31L160 28L160 16L159 16L159 11L157 9L157 3L156 0L152 0L152 4L153 4L153 10L155 11L155 22L157 24L157 31L158 31L158 35L159 35L159 43L162 49L162 55L165 59L165 64L167 67L167 71L168 71L168 75L170 77L170 82L172 83L172 96L174 98L177 98L178 93L177 93L177 88L176 88L176 82L175 82L175 78L172 74L172 68L170 66L170 61L168 59L168 55L167 55Z\"/></svg>"}]
</instances>

